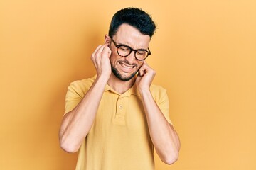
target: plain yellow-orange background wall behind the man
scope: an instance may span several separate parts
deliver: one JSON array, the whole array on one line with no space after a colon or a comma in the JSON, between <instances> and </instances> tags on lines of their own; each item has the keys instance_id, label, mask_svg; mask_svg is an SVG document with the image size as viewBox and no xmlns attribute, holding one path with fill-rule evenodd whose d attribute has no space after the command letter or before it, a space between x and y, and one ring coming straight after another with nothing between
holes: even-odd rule
<instances>
[{"instance_id":1,"label":"plain yellow-orange background wall behind the man","mask_svg":"<svg viewBox=\"0 0 256 170\"><path fill-rule=\"evenodd\" d=\"M157 23L147 61L181 138L178 162L156 169L256 169L254 0L1 0L0 169L74 169L58 145L65 92L95 74L90 55L127 6Z\"/></svg>"}]
</instances>

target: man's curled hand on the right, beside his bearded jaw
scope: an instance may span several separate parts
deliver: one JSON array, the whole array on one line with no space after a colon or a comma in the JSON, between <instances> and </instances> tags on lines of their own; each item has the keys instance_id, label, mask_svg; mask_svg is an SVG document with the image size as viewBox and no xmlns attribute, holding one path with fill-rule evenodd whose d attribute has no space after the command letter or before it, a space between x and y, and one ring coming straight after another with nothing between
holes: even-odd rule
<instances>
[{"instance_id":1,"label":"man's curled hand on the right, beside his bearded jaw","mask_svg":"<svg viewBox=\"0 0 256 170\"><path fill-rule=\"evenodd\" d=\"M136 79L136 85L140 92L143 90L149 90L155 75L156 71L149 67L149 65L144 61L142 67L139 68L139 73Z\"/></svg>"}]
</instances>

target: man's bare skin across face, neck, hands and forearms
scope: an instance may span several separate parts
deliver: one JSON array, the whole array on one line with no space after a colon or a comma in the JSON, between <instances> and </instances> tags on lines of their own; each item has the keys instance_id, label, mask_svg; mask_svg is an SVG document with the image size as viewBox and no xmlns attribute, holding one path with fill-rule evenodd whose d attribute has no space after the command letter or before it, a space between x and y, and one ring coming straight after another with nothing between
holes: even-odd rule
<instances>
[{"instance_id":1,"label":"man's bare skin across face, neck, hands and forearms","mask_svg":"<svg viewBox=\"0 0 256 170\"><path fill-rule=\"evenodd\" d=\"M117 44L128 45L133 49L147 49L151 38L142 35L136 28L127 24L119 26L113 39ZM60 147L66 152L77 152L85 140L95 120L105 85L108 84L119 94L123 94L136 84L149 126L149 134L157 154L166 164L178 159L180 142L174 127L170 125L151 96L149 87L156 72L145 61L136 60L134 52L127 57L117 54L117 48L111 38L105 35L105 44L99 45L92 53L91 60L97 71L97 79L82 101L73 111L65 114L60 125ZM123 81L112 73L114 67L123 78L139 72L137 77Z\"/></svg>"}]
</instances>

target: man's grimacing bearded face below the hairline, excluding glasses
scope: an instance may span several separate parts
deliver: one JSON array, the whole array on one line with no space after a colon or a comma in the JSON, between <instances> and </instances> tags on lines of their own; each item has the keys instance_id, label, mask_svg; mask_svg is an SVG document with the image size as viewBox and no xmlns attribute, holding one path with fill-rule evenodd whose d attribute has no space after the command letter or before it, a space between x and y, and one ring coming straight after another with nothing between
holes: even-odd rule
<instances>
[{"instance_id":1,"label":"man's grimacing bearded face below the hairline, excluding glasses","mask_svg":"<svg viewBox=\"0 0 256 170\"><path fill-rule=\"evenodd\" d=\"M150 37L149 35L143 35L142 33L128 24L122 24L119 26L117 33L112 37L117 45L127 45L132 49L144 49L149 47ZM110 40L110 49L112 54L110 56L110 64L112 67L112 73L118 79L122 81L129 81L138 72L142 66L143 61L139 61L135 58L134 52L127 57L121 57L117 53L117 47L114 46L112 40Z\"/></svg>"}]
</instances>

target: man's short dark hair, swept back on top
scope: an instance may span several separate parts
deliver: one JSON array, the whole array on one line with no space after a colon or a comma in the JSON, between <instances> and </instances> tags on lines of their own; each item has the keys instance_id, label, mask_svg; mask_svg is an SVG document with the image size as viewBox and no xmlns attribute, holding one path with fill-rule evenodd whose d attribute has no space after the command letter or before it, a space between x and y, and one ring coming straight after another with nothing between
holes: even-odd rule
<instances>
[{"instance_id":1,"label":"man's short dark hair, swept back on top","mask_svg":"<svg viewBox=\"0 0 256 170\"><path fill-rule=\"evenodd\" d=\"M154 35L156 24L151 16L140 8L124 8L114 14L111 23L109 35L112 38L123 23L127 23L134 28L137 28L140 33L149 35L150 38Z\"/></svg>"}]
</instances>

